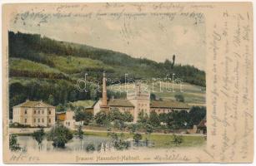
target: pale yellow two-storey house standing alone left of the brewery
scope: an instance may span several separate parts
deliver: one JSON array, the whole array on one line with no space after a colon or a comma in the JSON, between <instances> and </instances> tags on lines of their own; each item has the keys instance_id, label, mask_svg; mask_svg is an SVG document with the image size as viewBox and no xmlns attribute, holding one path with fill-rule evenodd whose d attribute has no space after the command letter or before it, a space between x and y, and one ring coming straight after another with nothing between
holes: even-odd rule
<instances>
[{"instance_id":1,"label":"pale yellow two-storey house standing alone left of the brewery","mask_svg":"<svg viewBox=\"0 0 256 166\"><path fill-rule=\"evenodd\" d=\"M31 127L53 126L55 124L55 107L42 100L26 100L20 105L13 106L13 123L15 122Z\"/></svg>"}]
</instances>

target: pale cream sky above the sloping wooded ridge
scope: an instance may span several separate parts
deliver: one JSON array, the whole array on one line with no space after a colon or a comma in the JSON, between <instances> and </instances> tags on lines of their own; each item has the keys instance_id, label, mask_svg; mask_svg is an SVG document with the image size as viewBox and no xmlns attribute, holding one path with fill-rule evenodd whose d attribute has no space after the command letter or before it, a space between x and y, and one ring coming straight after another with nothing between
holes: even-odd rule
<instances>
[{"instance_id":1,"label":"pale cream sky above the sloping wooded ridge","mask_svg":"<svg viewBox=\"0 0 256 166\"><path fill-rule=\"evenodd\" d=\"M145 57L153 61L172 60L193 65L201 70L206 65L205 27L193 17L48 17L38 23L33 17L24 22L11 22L13 32L38 33L58 41L71 41L88 46Z\"/></svg>"}]
</instances>

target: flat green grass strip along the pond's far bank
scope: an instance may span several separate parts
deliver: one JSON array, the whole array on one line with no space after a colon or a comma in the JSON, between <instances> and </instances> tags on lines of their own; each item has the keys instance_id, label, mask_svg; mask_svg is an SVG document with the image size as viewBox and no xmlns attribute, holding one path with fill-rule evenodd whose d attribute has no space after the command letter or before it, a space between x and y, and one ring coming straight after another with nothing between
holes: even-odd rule
<instances>
[{"instance_id":1,"label":"flat green grass strip along the pond's far bank","mask_svg":"<svg viewBox=\"0 0 256 166\"><path fill-rule=\"evenodd\" d=\"M108 137L107 132L93 132L93 131L86 131L86 135L93 135L99 137ZM133 139L133 134L123 133L125 139ZM143 134L143 139L148 137L147 134ZM176 147L175 144L172 143L173 135L172 134L150 134L149 140L154 142L153 148L172 148ZM203 136L190 136L184 135L183 136L183 143L178 145L178 147L195 147L195 146L202 146L206 144L206 140Z\"/></svg>"}]
</instances>

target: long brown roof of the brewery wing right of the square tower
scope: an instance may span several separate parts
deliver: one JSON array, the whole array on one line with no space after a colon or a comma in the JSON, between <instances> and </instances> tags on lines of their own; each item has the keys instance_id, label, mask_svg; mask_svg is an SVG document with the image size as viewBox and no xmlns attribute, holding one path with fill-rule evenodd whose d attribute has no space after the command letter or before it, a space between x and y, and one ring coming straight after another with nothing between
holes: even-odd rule
<instances>
[{"instance_id":1,"label":"long brown roof of the brewery wing right of the square tower","mask_svg":"<svg viewBox=\"0 0 256 166\"><path fill-rule=\"evenodd\" d=\"M151 108L189 109L189 105L174 100L151 100Z\"/></svg>"}]
</instances>

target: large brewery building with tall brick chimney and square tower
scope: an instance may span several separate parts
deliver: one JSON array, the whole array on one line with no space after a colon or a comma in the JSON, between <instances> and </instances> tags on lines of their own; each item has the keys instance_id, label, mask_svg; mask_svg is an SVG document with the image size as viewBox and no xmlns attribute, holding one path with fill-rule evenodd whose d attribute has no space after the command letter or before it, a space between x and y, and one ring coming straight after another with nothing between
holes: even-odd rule
<instances>
[{"instance_id":1,"label":"large brewery building with tall brick chimney and square tower","mask_svg":"<svg viewBox=\"0 0 256 166\"><path fill-rule=\"evenodd\" d=\"M138 114L144 112L150 114L155 111L157 114L168 113L175 110L189 111L190 106L175 100L150 100L150 93L143 91L140 85L136 85L134 90L127 93L127 99L111 99L107 98L107 86L105 74L103 74L103 97L93 105L93 115L101 110L111 111L118 109L120 112L129 112L133 115L133 122L138 121Z\"/></svg>"}]
</instances>

